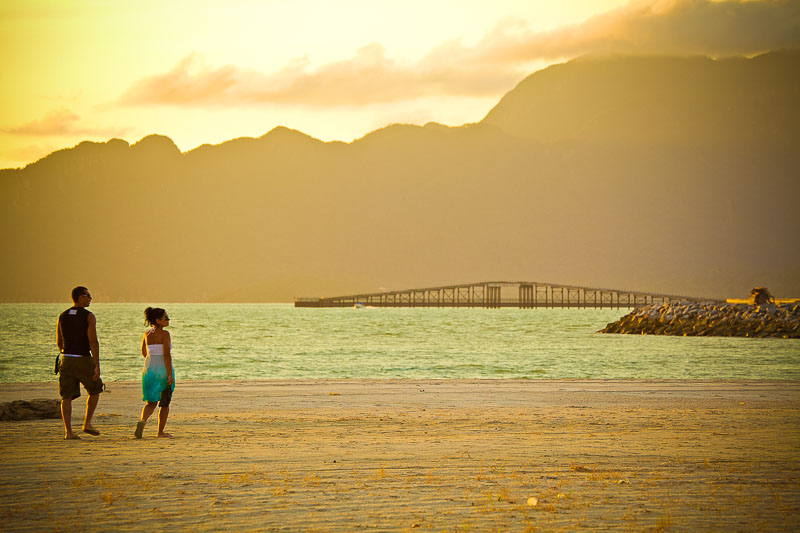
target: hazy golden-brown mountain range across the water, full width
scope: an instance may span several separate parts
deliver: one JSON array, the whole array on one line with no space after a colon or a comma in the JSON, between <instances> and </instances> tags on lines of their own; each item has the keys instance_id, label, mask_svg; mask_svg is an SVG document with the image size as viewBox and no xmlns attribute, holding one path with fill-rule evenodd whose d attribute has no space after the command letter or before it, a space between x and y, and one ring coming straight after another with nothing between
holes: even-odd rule
<instances>
[{"instance_id":1,"label":"hazy golden-brown mountain range across the water, full width","mask_svg":"<svg viewBox=\"0 0 800 533\"><path fill-rule=\"evenodd\" d=\"M291 301L483 280L800 296L800 52L584 57L480 122L0 171L0 300Z\"/></svg>"}]
</instances>

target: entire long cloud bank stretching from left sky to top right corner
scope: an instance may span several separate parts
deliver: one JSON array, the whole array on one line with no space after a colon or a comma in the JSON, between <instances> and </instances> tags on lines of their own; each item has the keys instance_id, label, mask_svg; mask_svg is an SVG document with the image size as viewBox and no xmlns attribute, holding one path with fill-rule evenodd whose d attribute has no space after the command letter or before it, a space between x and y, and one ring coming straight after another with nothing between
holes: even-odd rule
<instances>
[{"instance_id":1,"label":"entire long cloud bank stretching from left sky to top right corner","mask_svg":"<svg viewBox=\"0 0 800 533\"><path fill-rule=\"evenodd\" d=\"M119 103L337 107L423 96L485 97L510 89L537 61L589 53L721 56L793 47L800 47L797 0L637 0L549 32L506 21L476 46L449 41L411 64L387 57L377 43L316 69L303 57L269 74L232 65L211 68L193 54L165 74L142 79Z\"/></svg>"}]
</instances>

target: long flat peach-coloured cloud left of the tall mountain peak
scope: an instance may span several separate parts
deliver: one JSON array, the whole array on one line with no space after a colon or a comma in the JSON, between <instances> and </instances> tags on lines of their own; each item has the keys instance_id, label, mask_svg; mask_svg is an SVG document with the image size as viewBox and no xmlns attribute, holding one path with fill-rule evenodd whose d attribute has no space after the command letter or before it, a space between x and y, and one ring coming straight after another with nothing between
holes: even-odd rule
<instances>
[{"instance_id":1,"label":"long flat peach-coloured cloud left of the tall mountain peak","mask_svg":"<svg viewBox=\"0 0 800 533\"><path fill-rule=\"evenodd\" d=\"M462 53L462 55L464 55ZM307 57L272 74L234 66L209 68L192 54L166 74L141 80L120 99L123 105L230 106L298 104L357 106L413 100L436 94L485 96L508 90L519 75L508 69L460 68L450 61L401 65L377 43L354 57L310 70Z\"/></svg>"}]
</instances>

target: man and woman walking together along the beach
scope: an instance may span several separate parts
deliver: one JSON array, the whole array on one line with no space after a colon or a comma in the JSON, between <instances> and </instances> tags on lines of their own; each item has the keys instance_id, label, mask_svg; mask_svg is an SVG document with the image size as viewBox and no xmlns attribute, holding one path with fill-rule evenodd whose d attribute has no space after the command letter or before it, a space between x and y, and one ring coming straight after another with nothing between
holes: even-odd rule
<instances>
[{"instance_id":1,"label":"man and woman walking together along the beach","mask_svg":"<svg viewBox=\"0 0 800 533\"><path fill-rule=\"evenodd\" d=\"M86 309L92 303L89 289L78 286L72 289L73 305L58 317L56 344L61 355L56 370L59 373L58 390L61 396L61 418L64 420L65 439L79 439L72 431L72 400L80 397L81 384L89 398L82 431L89 435L100 432L92 425L92 415L97 408L100 393L105 389L100 379L100 344L97 340L97 321ZM171 437L164 431L169 416L169 404L175 390L175 369L172 367L172 342L169 316L164 309L148 307L144 310L145 324L151 326L142 336L142 416L136 424L134 436L142 438L150 415L158 411L158 436Z\"/></svg>"}]
</instances>

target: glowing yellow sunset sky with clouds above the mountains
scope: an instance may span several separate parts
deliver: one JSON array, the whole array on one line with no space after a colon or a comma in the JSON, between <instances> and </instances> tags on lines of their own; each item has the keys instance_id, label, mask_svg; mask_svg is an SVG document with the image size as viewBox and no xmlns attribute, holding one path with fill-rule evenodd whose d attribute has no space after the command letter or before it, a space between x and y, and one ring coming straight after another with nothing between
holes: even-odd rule
<instances>
[{"instance_id":1,"label":"glowing yellow sunset sky with clouds above the mountains","mask_svg":"<svg viewBox=\"0 0 800 533\"><path fill-rule=\"evenodd\" d=\"M0 168L153 133L458 126L581 55L797 47L800 0L3 0Z\"/></svg>"}]
</instances>

